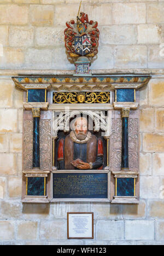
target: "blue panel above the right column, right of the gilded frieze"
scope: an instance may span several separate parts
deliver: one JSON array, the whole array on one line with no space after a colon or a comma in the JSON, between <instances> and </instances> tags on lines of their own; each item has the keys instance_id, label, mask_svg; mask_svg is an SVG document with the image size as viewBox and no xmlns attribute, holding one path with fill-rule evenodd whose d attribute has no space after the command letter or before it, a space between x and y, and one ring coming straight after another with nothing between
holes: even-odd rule
<instances>
[{"instance_id":1,"label":"blue panel above the right column, right of the gilded frieze","mask_svg":"<svg viewBox=\"0 0 164 256\"><path fill-rule=\"evenodd\" d=\"M134 102L134 89L117 89L117 102Z\"/></svg>"}]
</instances>

